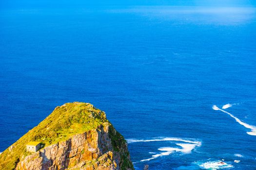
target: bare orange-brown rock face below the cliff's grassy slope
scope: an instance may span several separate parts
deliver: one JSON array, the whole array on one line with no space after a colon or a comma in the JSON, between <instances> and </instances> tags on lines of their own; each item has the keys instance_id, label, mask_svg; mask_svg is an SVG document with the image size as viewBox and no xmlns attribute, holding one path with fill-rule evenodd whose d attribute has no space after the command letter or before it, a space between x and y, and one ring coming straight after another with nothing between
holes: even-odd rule
<instances>
[{"instance_id":1,"label":"bare orange-brown rock face below the cliff's grassy slope","mask_svg":"<svg viewBox=\"0 0 256 170\"><path fill-rule=\"evenodd\" d=\"M45 147L26 156L16 170L132 170L126 144L117 146L121 152L114 151L110 131L117 135L109 123L103 123L98 129Z\"/></svg>"}]
</instances>

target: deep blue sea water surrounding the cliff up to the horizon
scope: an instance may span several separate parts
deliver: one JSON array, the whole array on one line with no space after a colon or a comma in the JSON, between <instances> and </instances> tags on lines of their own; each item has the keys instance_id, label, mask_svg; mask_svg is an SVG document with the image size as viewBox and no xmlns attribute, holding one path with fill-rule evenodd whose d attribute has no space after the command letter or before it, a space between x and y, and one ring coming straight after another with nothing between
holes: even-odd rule
<instances>
[{"instance_id":1,"label":"deep blue sea water surrounding the cliff up to the horizon","mask_svg":"<svg viewBox=\"0 0 256 170\"><path fill-rule=\"evenodd\" d=\"M0 151L75 101L138 170L256 170L256 8L0 9Z\"/></svg>"}]
</instances>

